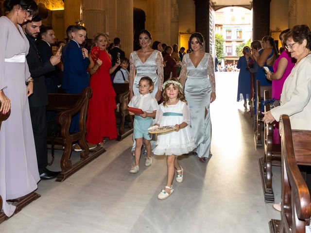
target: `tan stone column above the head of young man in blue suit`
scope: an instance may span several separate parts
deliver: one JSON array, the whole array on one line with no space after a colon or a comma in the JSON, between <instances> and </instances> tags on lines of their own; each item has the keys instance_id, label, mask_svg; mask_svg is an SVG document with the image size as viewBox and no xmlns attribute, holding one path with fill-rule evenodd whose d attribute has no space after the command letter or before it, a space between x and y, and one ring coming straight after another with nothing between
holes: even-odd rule
<instances>
[{"instance_id":1,"label":"tan stone column above the head of young man in blue suit","mask_svg":"<svg viewBox=\"0 0 311 233\"><path fill-rule=\"evenodd\" d=\"M66 29L69 25L75 25L78 20L81 19L81 1L80 0L65 0L64 1L64 35L66 35Z\"/></svg>"}]
</instances>

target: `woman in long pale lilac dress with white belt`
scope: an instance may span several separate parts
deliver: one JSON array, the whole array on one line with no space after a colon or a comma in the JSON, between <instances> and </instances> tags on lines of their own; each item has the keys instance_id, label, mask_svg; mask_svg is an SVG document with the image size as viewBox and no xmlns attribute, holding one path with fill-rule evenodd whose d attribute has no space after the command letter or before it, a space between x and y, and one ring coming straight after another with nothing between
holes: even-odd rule
<instances>
[{"instance_id":1,"label":"woman in long pale lilac dress with white belt","mask_svg":"<svg viewBox=\"0 0 311 233\"><path fill-rule=\"evenodd\" d=\"M26 61L29 42L19 26L38 8L33 0L5 0L4 9L9 13L0 17L0 111L11 108L11 115L0 130L0 195L1 209L11 216L15 206L6 200L33 192L40 180L27 98L33 93Z\"/></svg>"}]
</instances>

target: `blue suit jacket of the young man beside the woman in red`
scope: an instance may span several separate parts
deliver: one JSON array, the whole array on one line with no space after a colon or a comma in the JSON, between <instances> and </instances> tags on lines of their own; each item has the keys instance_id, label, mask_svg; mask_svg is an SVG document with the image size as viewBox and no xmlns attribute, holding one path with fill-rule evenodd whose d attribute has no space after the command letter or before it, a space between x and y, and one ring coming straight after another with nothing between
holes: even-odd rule
<instances>
[{"instance_id":1,"label":"blue suit jacket of the young man beside the woman in red","mask_svg":"<svg viewBox=\"0 0 311 233\"><path fill-rule=\"evenodd\" d=\"M77 42L70 40L62 52L64 63L63 89L67 93L81 93L89 85L89 75L86 69L89 59L83 58Z\"/></svg>"}]
</instances>

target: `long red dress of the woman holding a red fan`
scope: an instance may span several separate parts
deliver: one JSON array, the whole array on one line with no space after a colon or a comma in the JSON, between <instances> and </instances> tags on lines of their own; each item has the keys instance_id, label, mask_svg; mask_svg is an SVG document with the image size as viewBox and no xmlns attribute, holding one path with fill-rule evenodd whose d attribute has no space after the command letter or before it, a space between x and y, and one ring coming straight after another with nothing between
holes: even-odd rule
<instances>
[{"instance_id":1,"label":"long red dress of the woman holding a red fan","mask_svg":"<svg viewBox=\"0 0 311 233\"><path fill-rule=\"evenodd\" d=\"M92 97L88 101L86 141L98 144L103 140L103 137L109 137L110 140L117 138L115 116L117 105L116 93L112 87L109 74L110 56L105 50L94 47L91 50L91 57L95 64L97 58L100 58L103 64L90 78Z\"/></svg>"}]
</instances>

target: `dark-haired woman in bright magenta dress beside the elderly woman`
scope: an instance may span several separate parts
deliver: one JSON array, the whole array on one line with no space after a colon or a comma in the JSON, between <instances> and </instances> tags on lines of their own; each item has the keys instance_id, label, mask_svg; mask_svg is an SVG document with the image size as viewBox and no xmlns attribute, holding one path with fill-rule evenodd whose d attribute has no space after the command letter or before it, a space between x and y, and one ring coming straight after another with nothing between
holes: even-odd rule
<instances>
[{"instance_id":1,"label":"dark-haired woman in bright magenta dress beside the elderly woman","mask_svg":"<svg viewBox=\"0 0 311 233\"><path fill-rule=\"evenodd\" d=\"M286 41L284 41L285 34L290 31L290 29L284 30L280 34L282 45L285 47ZM296 59L291 57L291 53L288 50L284 50L279 57L276 59L273 65L273 73L268 73L266 75L267 79L272 81L272 95L271 98L275 98L274 106L280 105L280 98L283 89L283 85L287 77L290 75L293 67L296 64ZM278 122L275 123L273 129L273 143L280 144L281 138L278 128Z\"/></svg>"}]
</instances>

